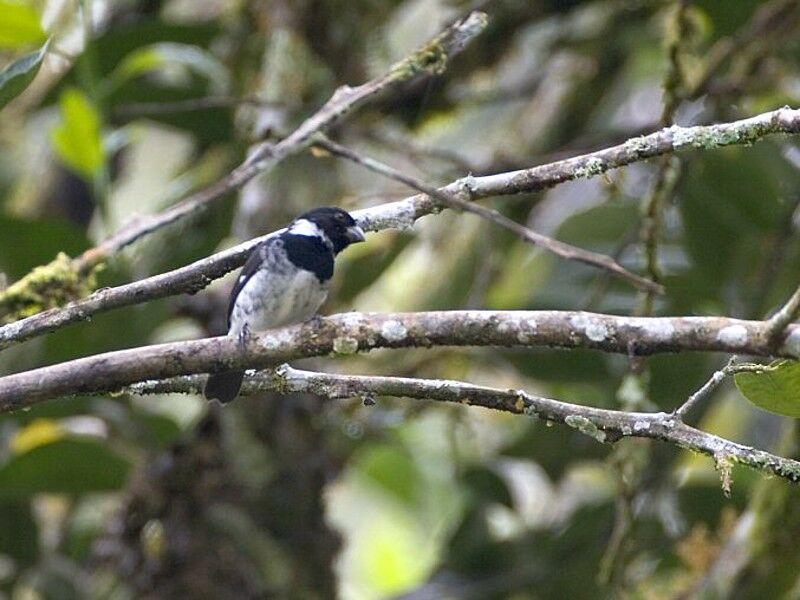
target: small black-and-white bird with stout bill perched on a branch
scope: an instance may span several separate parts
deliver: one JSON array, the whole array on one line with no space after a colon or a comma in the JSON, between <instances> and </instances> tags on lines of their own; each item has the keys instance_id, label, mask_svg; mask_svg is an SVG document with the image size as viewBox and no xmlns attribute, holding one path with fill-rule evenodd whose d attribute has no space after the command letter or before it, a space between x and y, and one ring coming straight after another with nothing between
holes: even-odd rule
<instances>
[{"instance_id":1,"label":"small black-and-white bird with stout bill perched on a branch","mask_svg":"<svg viewBox=\"0 0 800 600\"><path fill-rule=\"evenodd\" d=\"M242 268L228 303L228 335L244 342L265 331L316 316L328 297L336 256L363 242L364 230L341 208L303 213L258 244ZM223 404L239 395L244 371L209 375L203 395Z\"/></svg>"}]
</instances>

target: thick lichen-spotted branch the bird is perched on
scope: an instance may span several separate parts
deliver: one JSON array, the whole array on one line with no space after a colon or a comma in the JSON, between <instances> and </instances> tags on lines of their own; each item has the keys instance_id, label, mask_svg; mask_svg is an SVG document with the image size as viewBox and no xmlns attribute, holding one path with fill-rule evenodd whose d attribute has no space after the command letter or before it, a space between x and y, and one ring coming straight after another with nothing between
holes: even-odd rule
<instances>
[{"instance_id":1,"label":"thick lichen-spotted branch the bird is perched on","mask_svg":"<svg viewBox=\"0 0 800 600\"><path fill-rule=\"evenodd\" d=\"M146 379L348 355L375 348L505 346L589 348L627 355L728 352L797 358L800 326L770 343L765 321L725 317L624 317L574 311L344 313L253 335L143 346L0 378L0 412L64 395L113 392Z\"/></svg>"}]
</instances>

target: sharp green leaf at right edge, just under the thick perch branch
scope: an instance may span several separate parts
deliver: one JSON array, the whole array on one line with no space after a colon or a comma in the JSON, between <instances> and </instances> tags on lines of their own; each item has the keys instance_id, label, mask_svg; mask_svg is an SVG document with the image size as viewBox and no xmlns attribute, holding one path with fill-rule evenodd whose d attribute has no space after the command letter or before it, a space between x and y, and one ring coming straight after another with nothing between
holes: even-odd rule
<instances>
[{"instance_id":1,"label":"sharp green leaf at right edge, just under the thick perch branch","mask_svg":"<svg viewBox=\"0 0 800 600\"><path fill-rule=\"evenodd\" d=\"M800 362L784 360L761 372L736 373L742 395L764 410L800 418Z\"/></svg>"}]
</instances>

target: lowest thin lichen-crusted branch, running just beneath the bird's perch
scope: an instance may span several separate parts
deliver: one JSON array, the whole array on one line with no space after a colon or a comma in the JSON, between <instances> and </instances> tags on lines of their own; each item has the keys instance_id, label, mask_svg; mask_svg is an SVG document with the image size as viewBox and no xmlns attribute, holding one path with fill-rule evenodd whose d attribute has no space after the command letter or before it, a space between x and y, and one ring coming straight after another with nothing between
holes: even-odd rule
<instances>
[{"instance_id":1,"label":"lowest thin lichen-crusted branch, running just beneath the bird's perch","mask_svg":"<svg viewBox=\"0 0 800 600\"><path fill-rule=\"evenodd\" d=\"M204 377L192 375L162 381L145 381L125 391L133 394L199 393ZM243 394L265 391L311 393L330 399L392 396L483 406L513 414L564 423L599 442L624 437L649 438L714 458L747 465L800 483L800 462L690 427L667 413L623 412L571 404L520 390L494 388L449 380L410 379L364 375L332 375L284 367L274 373L258 372L245 378Z\"/></svg>"}]
</instances>

